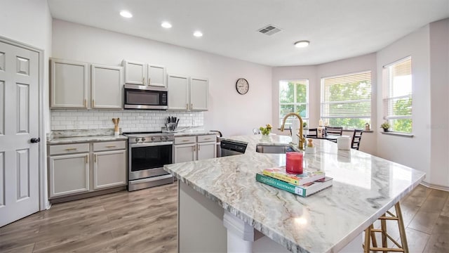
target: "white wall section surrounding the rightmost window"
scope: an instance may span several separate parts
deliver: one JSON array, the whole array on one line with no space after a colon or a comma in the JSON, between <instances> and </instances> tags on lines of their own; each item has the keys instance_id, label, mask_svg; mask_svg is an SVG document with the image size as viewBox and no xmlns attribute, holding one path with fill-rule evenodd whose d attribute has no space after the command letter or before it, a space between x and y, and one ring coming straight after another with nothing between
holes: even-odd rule
<instances>
[{"instance_id":1,"label":"white wall section surrounding the rightmost window","mask_svg":"<svg viewBox=\"0 0 449 253\"><path fill-rule=\"evenodd\" d=\"M424 171L426 173L424 182L430 183L432 174L430 169L431 129L429 129L431 124L429 25L377 52L377 79L382 82L384 65L407 56L412 57L413 138L377 134L377 155ZM382 122L382 84L377 86L377 92L379 94L377 122Z\"/></svg>"}]
</instances>

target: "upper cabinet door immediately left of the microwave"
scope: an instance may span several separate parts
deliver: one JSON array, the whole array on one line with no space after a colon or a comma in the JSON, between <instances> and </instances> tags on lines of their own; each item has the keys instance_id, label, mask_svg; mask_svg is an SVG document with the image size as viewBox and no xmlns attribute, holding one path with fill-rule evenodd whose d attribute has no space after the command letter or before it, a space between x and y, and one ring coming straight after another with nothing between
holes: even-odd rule
<instances>
[{"instance_id":1,"label":"upper cabinet door immediately left of the microwave","mask_svg":"<svg viewBox=\"0 0 449 253\"><path fill-rule=\"evenodd\" d=\"M91 108L121 109L123 68L91 66Z\"/></svg>"}]
</instances>

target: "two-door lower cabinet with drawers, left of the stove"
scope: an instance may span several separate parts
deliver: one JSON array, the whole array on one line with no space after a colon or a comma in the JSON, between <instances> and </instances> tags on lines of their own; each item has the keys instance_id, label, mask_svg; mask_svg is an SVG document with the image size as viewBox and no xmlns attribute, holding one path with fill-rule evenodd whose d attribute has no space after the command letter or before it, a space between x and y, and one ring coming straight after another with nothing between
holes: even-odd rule
<instances>
[{"instance_id":1,"label":"two-door lower cabinet with drawers, left of the stove","mask_svg":"<svg viewBox=\"0 0 449 253\"><path fill-rule=\"evenodd\" d=\"M126 186L126 141L48 145L50 199Z\"/></svg>"}]
</instances>

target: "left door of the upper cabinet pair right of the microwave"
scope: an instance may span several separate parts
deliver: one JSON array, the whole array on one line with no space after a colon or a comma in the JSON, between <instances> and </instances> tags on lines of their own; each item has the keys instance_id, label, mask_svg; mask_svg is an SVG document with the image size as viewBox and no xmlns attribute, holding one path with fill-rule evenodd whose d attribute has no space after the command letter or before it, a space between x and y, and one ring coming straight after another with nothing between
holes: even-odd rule
<instances>
[{"instance_id":1,"label":"left door of the upper cabinet pair right of the microwave","mask_svg":"<svg viewBox=\"0 0 449 253\"><path fill-rule=\"evenodd\" d=\"M167 76L168 110L189 110L189 78L177 74Z\"/></svg>"}]
</instances>

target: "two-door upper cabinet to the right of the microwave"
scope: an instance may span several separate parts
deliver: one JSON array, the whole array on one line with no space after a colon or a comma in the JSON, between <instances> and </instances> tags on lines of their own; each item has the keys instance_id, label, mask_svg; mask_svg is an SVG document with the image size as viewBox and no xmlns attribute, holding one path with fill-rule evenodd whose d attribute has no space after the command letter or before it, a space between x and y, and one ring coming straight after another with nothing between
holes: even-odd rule
<instances>
[{"instance_id":1,"label":"two-door upper cabinet to the right of the microwave","mask_svg":"<svg viewBox=\"0 0 449 253\"><path fill-rule=\"evenodd\" d=\"M208 110L208 79L167 75L168 110Z\"/></svg>"}]
</instances>

